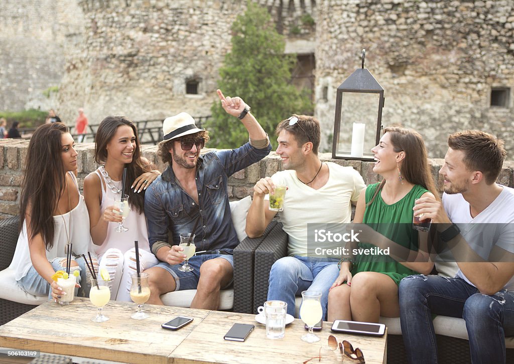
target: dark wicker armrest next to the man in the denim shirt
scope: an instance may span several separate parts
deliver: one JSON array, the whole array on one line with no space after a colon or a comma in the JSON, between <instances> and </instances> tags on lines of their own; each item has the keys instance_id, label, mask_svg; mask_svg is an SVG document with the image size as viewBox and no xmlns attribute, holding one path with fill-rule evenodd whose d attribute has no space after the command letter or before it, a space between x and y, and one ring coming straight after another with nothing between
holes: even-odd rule
<instances>
[{"instance_id":1,"label":"dark wicker armrest next to the man in the denim shirt","mask_svg":"<svg viewBox=\"0 0 514 364\"><path fill-rule=\"evenodd\" d=\"M272 221L258 238L246 238L234 249L234 312L253 312L253 261L256 248L277 225Z\"/></svg>"}]
</instances>

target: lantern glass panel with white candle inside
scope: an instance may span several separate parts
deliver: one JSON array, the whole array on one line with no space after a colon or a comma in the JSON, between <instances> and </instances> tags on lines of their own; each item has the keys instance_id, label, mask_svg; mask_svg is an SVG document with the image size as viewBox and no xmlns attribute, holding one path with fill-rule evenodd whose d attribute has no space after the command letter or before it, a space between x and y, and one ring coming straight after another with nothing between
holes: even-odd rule
<instances>
[{"instance_id":1,"label":"lantern glass panel with white candle inside","mask_svg":"<svg viewBox=\"0 0 514 364\"><path fill-rule=\"evenodd\" d=\"M373 158L379 99L379 93L342 92L337 156Z\"/></svg>"}]
</instances>

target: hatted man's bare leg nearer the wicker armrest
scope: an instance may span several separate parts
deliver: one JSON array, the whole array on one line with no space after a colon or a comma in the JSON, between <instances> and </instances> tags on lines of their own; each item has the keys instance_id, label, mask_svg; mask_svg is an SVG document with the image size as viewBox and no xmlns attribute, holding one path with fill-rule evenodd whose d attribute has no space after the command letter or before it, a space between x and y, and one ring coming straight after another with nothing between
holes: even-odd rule
<instances>
[{"instance_id":1,"label":"hatted man's bare leg nearer the wicker armrest","mask_svg":"<svg viewBox=\"0 0 514 364\"><path fill-rule=\"evenodd\" d=\"M226 259L215 258L200 265L200 279L196 295L191 302L192 309L217 310L220 293L232 277L234 270Z\"/></svg>"}]
</instances>

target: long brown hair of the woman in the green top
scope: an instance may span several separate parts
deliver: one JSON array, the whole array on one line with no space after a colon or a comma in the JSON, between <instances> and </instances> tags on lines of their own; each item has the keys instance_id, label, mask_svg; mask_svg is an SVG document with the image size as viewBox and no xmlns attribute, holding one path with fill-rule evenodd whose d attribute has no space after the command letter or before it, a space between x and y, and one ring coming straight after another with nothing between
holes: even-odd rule
<instances>
[{"instance_id":1,"label":"long brown hair of the woman in the green top","mask_svg":"<svg viewBox=\"0 0 514 364\"><path fill-rule=\"evenodd\" d=\"M436 199L439 194L435 188L434 179L428 164L427 148L421 135L412 129L399 127L384 128L384 134L389 133L391 144L395 152L405 151L405 159L401 163L400 173L403 179L412 184L418 184L428 189ZM383 180L375 190L373 198L366 205L370 205L386 183Z\"/></svg>"}]
</instances>

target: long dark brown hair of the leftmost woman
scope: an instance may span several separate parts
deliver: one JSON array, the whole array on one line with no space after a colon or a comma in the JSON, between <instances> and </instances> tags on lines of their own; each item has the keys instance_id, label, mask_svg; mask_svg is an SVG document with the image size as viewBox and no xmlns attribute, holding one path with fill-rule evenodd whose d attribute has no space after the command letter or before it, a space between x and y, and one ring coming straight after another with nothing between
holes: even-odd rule
<instances>
[{"instance_id":1,"label":"long dark brown hair of the leftmost woman","mask_svg":"<svg viewBox=\"0 0 514 364\"><path fill-rule=\"evenodd\" d=\"M61 123L44 124L30 138L20 197L20 221L30 216L29 239L41 234L45 247L53 246L53 211L64 192L66 172L62 160L62 135L69 132Z\"/></svg>"}]
</instances>

